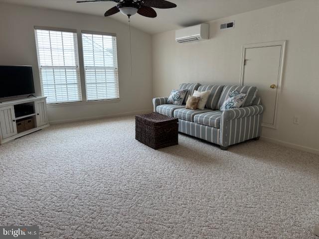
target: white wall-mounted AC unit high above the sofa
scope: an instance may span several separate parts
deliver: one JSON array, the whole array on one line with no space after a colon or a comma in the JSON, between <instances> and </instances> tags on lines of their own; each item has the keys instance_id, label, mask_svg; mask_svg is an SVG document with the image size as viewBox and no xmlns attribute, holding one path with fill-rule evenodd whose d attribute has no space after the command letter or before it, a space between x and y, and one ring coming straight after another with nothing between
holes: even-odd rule
<instances>
[{"instance_id":1,"label":"white wall-mounted AC unit high above the sofa","mask_svg":"<svg viewBox=\"0 0 319 239\"><path fill-rule=\"evenodd\" d=\"M202 41L209 39L209 24L204 23L176 30L175 40L178 43Z\"/></svg>"}]
</instances>

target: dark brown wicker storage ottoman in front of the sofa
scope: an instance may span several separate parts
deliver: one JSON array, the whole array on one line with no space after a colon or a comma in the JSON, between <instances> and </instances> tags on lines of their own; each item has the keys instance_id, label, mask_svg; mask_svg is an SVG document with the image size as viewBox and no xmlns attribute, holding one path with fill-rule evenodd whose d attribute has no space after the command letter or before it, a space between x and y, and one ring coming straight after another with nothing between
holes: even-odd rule
<instances>
[{"instance_id":1,"label":"dark brown wicker storage ottoman in front of the sofa","mask_svg":"<svg viewBox=\"0 0 319 239\"><path fill-rule=\"evenodd\" d=\"M176 145L178 119L159 113L135 116L135 138L154 149Z\"/></svg>"}]
</instances>

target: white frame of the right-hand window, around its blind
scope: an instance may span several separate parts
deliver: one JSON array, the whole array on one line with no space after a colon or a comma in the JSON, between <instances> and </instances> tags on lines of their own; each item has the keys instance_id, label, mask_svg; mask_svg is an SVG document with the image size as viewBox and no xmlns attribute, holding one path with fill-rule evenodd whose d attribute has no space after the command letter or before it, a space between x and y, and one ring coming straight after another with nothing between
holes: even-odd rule
<instances>
[{"instance_id":1,"label":"white frame of the right-hand window, around its blind","mask_svg":"<svg viewBox=\"0 0 319 239\"><path fill-rule=\"evenodd\" d=\"M88 100L87 99L87 80L86 80L86 73L85 73L85 61L84 61L84 50L83 50L83 34L92 34L92 35L102 35L102 36L112 36L115 37L115 41L116 41L116 63L117 63L117 75L118 75L118 79L117 79L117 88L118 88L118 98L114 98L114 99L97 99L97 100ZM81 54L82 54L82 66L83 66L83 76L84 76L84 91L85 91L85 101L86 102L100 102L100 101L114 101L114 102L118 102L120 100L120 77L119 77L119 57L118 57L118 38L116 33L109 33L109 32L100 32L100 31L89 31L89 30L81 30L81 32L79 33L80 37L79 39L81 40ZM96 67L99 68L99 67ZM102 67L102 68L106 68L106 67Z\"/></svg>"}]
</instances>

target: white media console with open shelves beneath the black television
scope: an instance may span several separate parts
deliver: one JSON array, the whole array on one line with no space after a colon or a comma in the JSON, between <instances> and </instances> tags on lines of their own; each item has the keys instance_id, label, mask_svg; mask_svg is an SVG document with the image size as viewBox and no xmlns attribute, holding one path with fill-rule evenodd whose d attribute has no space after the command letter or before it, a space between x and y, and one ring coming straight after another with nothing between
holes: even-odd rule
<instances>
[{"instance_id":1,"label":"white media console with open shelves beneath the black television","mask_svg":"<svg viewBox=\"0 0 319 239\"><path fill-rule=\"evenodd\" d=\"M0 144L49 126L46 97L0 103Z\"/></svg>"}]
</instances>

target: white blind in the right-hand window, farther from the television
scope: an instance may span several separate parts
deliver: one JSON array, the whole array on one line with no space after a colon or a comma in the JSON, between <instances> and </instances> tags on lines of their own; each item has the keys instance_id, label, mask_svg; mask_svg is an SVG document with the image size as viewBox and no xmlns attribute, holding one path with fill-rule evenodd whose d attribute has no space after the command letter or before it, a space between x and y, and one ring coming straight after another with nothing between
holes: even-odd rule
<instances>
[{"instance_id":1,"label":"white blind in the right-hand window, farther from the television","mask_svg":"<svg viewBox=\"0 0 319 239\"><path fill-rule=\"evenodd\" d=\"M82 33L88 101L119 99L116 36Z\"/></svg>"}]
</instances>

